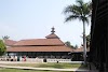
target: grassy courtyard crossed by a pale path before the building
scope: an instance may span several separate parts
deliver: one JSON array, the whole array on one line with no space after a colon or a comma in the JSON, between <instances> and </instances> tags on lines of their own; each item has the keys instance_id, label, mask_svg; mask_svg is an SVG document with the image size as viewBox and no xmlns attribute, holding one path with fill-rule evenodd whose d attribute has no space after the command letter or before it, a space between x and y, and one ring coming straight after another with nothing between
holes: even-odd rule
<instances>
[{"instance_id":1,"label":"grassy courtyard crossed by a pale path before the building","mask_svg":"<svg viewBox=\"0 0 108 72\"><path fill-rule=\"evenodd\" d=\"M75 72L86 71L82 63L66 63L66 62L0 62L0 72Z\"/></svg>"}]
</instances>

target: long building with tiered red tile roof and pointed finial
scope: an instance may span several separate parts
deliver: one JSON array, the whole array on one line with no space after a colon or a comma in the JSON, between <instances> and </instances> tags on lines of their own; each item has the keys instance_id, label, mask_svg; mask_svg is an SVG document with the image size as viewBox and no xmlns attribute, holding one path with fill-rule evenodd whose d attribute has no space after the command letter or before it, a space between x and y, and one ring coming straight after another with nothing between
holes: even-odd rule
<instances>
[{"instance_id":1,"label":"long building with tiered red tile roof and pointed finial","mask_svg":"<svg viewBox=\"0 0 108 72\"><path fill-rule=\"evenodd\" d=\"M28 39L21 41L4 40L8 56L26 56L29 58L58 58L71 59L72 48L67 47L55 34L52 28L51 34L45 39Z\"/></svg>"}]
</instances>

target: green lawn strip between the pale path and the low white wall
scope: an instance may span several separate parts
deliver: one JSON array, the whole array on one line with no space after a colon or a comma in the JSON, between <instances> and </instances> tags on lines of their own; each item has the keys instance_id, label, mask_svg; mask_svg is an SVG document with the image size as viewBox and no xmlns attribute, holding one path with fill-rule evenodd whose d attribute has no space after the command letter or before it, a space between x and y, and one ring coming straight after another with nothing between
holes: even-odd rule
<instances>
[{"instance_id":1,"label":"green lawn strip between the pale path and the low white wall","mask_svg":"<svg viewBox=\"0 0 108 72\"><path fill-rule=\"evenodd\" d=\"M11 63L6 66L21 66L21 67L35 67L35 68L57 68L57 69L71 69L81 67L80 63Z\"/></svg>"}]
</instances>

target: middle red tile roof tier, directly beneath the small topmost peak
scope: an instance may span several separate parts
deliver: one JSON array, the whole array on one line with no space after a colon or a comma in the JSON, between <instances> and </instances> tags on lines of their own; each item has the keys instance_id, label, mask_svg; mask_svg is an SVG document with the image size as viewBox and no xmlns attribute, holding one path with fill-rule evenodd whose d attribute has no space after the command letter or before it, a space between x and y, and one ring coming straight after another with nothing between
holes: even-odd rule
<instances>
[{"instance_id":1,"label":"middle red tile roof tier, directly beneath the small topmost peak","mask_svg":"<svg viewBox=\"0 0 108 72\"><path fill-rule=\"evenodd\" d=\"M14 45L64 45L59 39L21 40Z\"/></svg>"}]
</instances>

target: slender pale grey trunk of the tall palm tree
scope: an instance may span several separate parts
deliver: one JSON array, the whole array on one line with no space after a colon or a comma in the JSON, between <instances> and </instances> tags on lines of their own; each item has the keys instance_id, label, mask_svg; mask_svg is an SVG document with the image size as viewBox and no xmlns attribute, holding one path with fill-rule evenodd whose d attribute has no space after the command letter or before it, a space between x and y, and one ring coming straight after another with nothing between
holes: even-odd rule
<instances>
[{"instance_id":1,"label":"slender pale grey trunk of the tall palm tree","mask_svg":"<svg viewBox=\"0 0 108 72\"><path fill-rule=\"evenodd\" d=\"M85 38L85 23L83 21L83 59L86 64L86 38Z\"/></svg>"}]
</instances>

